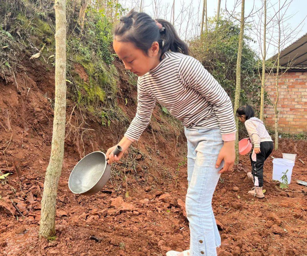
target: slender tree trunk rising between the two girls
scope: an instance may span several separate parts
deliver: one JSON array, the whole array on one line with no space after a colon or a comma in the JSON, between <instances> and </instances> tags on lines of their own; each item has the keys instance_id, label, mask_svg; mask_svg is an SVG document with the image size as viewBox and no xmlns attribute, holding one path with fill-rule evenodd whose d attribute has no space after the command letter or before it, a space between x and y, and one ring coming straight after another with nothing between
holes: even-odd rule
<instances>
[{"instance_id":1,"label":"slender tree trunk rising between the two girls","mask_svg":"<svg viewBox=\"0 0 307 256\"><path fill-rule=\"evenodd\" d=\"M244 34L244 4L245 0L242 0L241 5L241 22L240 22L240 36L239 36L239 47L238 47L238 57L236 66L236 84L235 84L235 113L239 107L240 100L240 90L241 90L241 57L243 48L243 34ZM237 132L235 135L235 164L239 163L239 127L238 118L235 118L235 125L237 127Z\"/></svg>"}]
</instances>

